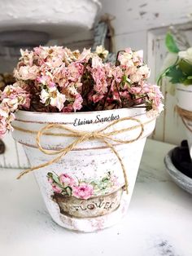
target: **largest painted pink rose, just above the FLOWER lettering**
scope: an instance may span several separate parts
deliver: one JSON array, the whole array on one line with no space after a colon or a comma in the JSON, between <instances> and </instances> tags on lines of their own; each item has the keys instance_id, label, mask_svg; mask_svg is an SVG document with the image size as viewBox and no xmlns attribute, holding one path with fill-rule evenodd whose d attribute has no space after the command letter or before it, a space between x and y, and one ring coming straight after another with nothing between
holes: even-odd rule
<instances>
[{"instance_id":1,"label":"largest painted pink rose, just above the FLOWER lettering","mask_svg":"<svg viewBox=\"0 0 192 256\"><path fill-rule=\"evenodd\" d=\"M81 199L88 199L94 194L94 188L90 184L81 183L79 186L75 186L72 189L72 196L76 196Z\"/></svg>"}]
</instances>

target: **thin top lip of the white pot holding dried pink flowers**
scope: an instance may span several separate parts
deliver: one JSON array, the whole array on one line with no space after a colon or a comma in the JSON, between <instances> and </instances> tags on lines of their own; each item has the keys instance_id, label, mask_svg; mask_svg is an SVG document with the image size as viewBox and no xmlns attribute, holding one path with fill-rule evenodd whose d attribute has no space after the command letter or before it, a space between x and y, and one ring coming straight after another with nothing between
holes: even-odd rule
<instances>
[{"instance_id":1,"label":"thin top lip of the white pot holding dried pink flowers","mask_svg":"<svg viewBox=\"0 0 192 256\"><path fill-rule=\"evenodd\" d=\"M143 106L143 107L142 107ZM57 112L57 113L53 113L53 112L36 112L36 111L28 111L28 110L23 110L23 109L20 109L20 110L18 110L16 113L25 113L27 116L31 116L31 115L42 115L42 114L46 114L46 115L50 115L50 116L52 116L52 115L76 115L76 114L94 114L94 113L103 113L103 112L105 112L105 113L109 113L109 112L111 112L111 111L113 111L113 112L119 112L120 110L128 110L128 109L130 109L130 110L133 110L133 109L144 109L144 108L146 108L145 107L145 105L143 104L143 105L139 105L139 108L138 107L130 107L130 108L116 108L116 109L105 109L105 110L95 110L95 111L85 111L85 112L70 112L70 113L61 113L61 112Z\"/></svg>"}]
</instances>

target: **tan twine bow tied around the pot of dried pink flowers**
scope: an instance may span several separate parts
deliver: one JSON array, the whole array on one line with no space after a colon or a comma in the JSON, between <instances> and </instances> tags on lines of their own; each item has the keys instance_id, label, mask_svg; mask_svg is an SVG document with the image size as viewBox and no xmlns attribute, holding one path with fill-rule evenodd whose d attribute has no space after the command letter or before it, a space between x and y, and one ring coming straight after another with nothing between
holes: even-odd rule
<instances>
[{"instance_id":1,"label":"tan twine bow tied around the pot of dried pink flowers","mask_svg":"<svg viewBox=\"0 0 192 256\"><path fill-rule=\"evenodd\" d=\"M126 120L127 121L137 121L138 125L127 127L127 128L121 129L121 130L113 130L113 131L107 132L108 128L115 126L117 123L120 123L121 121L126 121ZM141 127L141 131L140 131L139 135L137 135L137 138L135 138L135 139L116 139L113 137L114 135L119 135L119 134L124 133L125 131L129 131L129 130L135 130L139 127ZM54 134L52 132L47 132L47 130L51 130L51 129L55 129L55 128L59 128L61 130L66 130L66 131L68 131L68 133ZM24 129L19 128L18 130L24 130ZM28 131L28 130L24 130L24 131ZM31 132L34 133L34 131L31 131ZM121 166L121 168L123 170L123 174L124 174L125 190L128 193L128 178L127 178L126 170L124 167L124 163L112 143L113 142L115 142L115 143L133 143L134 141L136 141L137 139L139 139L142 136L143 132L144 132L144 126L142 124L142 121L140 121L134 117L120 118L116 121L112 121L111 124L105 126L104 128L101 128L101 129L95 130L95 131L91 131L91 132L79 131L79 130L69 128L68 126L59 125L59 124L46 125L41 130L35 132L35 133L37 133L37 137L36 137L37 148L41 152L45 153L46 155L59 155L59 156L55 157L54 159L52 159L50 161L47 161L44 164L41 164L39 166L34 166L28 170L24 170L23 172L20 173L20 175L17 177L17 179L20 179L24 174L28 174L28 172L31 172L33 170L38 170L38 169L41 169L46 166L50 166L51 164L58 162L68 152L72 151L73 148L76 148L77 144L88 141L88 140L95 139L95 140L102 141L103 143L105 143L107 145L108 148L111 148L111 151L115 153L116 157L120 161L120 166ZM41 141L40 141L42 135L74 137L76 139L72 143L70 143L67 147L55 151L55 150L42 148Z\"/></svg>"}]
</instances>

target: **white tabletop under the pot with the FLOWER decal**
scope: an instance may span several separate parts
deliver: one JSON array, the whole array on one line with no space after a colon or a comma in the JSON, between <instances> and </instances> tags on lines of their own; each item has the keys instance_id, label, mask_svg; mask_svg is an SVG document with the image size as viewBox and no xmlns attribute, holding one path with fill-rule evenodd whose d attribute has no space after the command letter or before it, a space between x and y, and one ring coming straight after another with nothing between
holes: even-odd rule
<instances>
[{"instance_id":1,"label":"white tabletop under the pot with the FLOWER decal","mask_svg":"<svg viewBox=\"0 0 192 256\"><path fill-rule=\"evenodd\" d=\"M95 233L52 221L33 174L0 170L0 256L190 256L192 196L172 183L164 155L173 145L148 140L127 216Z\"/></svg>"}]
</instances>

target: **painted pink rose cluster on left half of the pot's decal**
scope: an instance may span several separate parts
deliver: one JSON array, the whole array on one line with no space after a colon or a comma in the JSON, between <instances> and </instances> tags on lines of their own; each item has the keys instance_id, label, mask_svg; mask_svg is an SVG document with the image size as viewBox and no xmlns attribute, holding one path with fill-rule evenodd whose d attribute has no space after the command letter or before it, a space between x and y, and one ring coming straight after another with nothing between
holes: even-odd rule
<instances>
[{"instance_id":1,"label":"painted pink rose cluster on left half of the pot's decal","mask_svg":"<svg viewBox=\"0 0 192 256\"><path fill-rule=\"evenodd\" d=\"M77 183L68 174L55 174L48 173L48 180L55 193L63 194L63 196L75 196L80 199L88 199L94 194L94 187L89 183Z\"/></svg>"}]
</instances>

